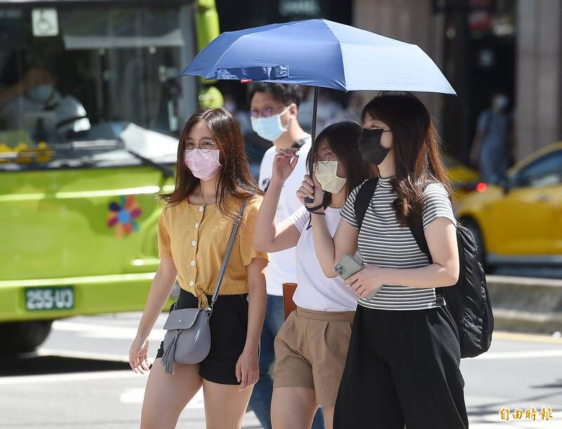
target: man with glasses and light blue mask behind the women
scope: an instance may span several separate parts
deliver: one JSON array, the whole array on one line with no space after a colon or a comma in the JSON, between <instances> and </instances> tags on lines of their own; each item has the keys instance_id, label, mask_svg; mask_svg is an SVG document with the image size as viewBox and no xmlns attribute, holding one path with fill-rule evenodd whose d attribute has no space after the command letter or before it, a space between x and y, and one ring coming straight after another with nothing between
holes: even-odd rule
<instances>
[{"instance_id":1,"label":"man with glasses and light blue mask behind the women","mask_svg":"<svg viewBox=\"0 0 562 429\"><path fill-rule=\"evenodd\" d=\"M277 151L299 148L299 161L283 185L277 206L277 222L282 222L301 207L296 198L296 190L301 186L306 174L306 157L311 149L311 136L301 128L297 120L302 98L301 89L297 85L256 82L249 86L248 98L252 129L262 139L273 143L261 160L259 186L263 191L268 188L273 174L273 160ZM273 380L270 369L275 361L273 340L284 321L282 284L295 281L295 258L294 248L272 253L266 274L268 303L261 333L260 377L250 399L251 408L264 429L271 429ZM318 411L313 429L320 428L324 428L324 420L322 413Z\"/></svg>"}]
</instances>

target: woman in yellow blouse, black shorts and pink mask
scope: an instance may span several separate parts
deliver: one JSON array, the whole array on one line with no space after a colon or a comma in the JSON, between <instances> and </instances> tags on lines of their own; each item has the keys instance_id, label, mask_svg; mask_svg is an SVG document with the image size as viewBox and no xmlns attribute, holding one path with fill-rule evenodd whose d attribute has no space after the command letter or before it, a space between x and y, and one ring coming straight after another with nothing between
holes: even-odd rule
<instances>
[{"instance_id":1,"label":"woman in yellow blouse, black shorts and pink mask","mask_svg":"<svg viewBox=\"0 0 562 429\"><path fill-rule=\"evenodd\" d=\"M150 369L141 428L175 428L190 399L203 387L207 428L240 428L254 383L266 309L266 253L252 247L261 191L249 172L242 132L223 108L190 117L180 137L176 188L162 196L158 223L160 265L129 361L148 371L148 335L178 279L177 308L207 307L228 238L243 200L240 229L210 319L211 350L196 365L174 363L164 372L163 346Z\"/></svg>"}]
</instances>

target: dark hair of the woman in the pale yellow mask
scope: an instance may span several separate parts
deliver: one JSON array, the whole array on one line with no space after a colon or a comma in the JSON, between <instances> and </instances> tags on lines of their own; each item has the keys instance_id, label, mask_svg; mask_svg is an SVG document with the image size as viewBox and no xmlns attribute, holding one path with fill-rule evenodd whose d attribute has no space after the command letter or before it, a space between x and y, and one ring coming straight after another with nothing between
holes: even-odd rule
<instances>
[{"instance_id":1,"label":"dark hair of the woman in the pale yellow mask","mask_svg":"<svg viewBox=\"0 0 562 429\"><path fill-rule=\"evenodd\" d=\"M361 158L359 152L358 139L360 132L361 126L357 122L342 121L329 125L316 136L313 151L308 152L306 160L306 165L310 165L311 156L313 162L318 161L320 143L326 141L331 151L346 169L346 198L353 189L370 177L370 164ZM332 194L325 192L322 204L324 207L328 207L330 203L332 203Z\"/></svg>"}]
</instances>

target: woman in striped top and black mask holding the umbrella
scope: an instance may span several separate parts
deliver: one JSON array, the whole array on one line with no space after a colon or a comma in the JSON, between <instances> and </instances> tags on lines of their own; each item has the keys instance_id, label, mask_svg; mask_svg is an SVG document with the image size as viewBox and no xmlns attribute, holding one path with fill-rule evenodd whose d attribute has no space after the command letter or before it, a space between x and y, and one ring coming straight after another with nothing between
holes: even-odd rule
<instances>
[{"instance_id":1,"label":"woman in striped top and black mask holding the umbrella","mask_svg":"<svg viewBox=\"0 0 562 429\"><path fill-rule=\"evenodd\" d=\"M345 282L359 305L334 428L468 428L459 334L436 294L459 276L457 221L438 135L414 96L375 97L361 120L362 157L379 169L362 223L355 215L361 186L341 209L334 238L325 217L312 215L315 250L326 276L334 277L336 262L356 250L365 264ZM311 207L322 200L314 177L305 177L298 195L313 198ZM421 216L432 264L412 236L412 215Z\"/></svg>"}]
</instances>

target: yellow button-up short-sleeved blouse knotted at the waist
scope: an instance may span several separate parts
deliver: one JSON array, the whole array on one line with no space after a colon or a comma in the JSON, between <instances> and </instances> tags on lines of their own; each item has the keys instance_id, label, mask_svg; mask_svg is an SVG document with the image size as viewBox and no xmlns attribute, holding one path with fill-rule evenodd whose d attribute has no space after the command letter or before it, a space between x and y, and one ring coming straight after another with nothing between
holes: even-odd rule
<instances>
[{"instance_id":1,"label":"yellow button-up short-sleeved blouse knotted at the waist","mask_svg":"<svg viewBox=\"0 0 562 429\"><path fill-rule=\"evenodd\" d=\"M244 208L220 295L247 293L247 266L254 257L268 259L252 245L262 200L261 196L252 198ZM229 197L226 204L237 213L241 201ZM232 229L233 219L222 214L216 204L194 205L185 198L176 205L166 203L160 214L158 256L174 260L180 287L197 296L200 308L209 305L206 295L214 292Z\"/></svg>"}]
</instances>

